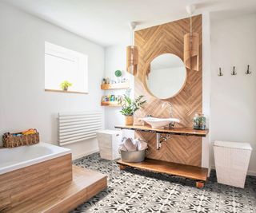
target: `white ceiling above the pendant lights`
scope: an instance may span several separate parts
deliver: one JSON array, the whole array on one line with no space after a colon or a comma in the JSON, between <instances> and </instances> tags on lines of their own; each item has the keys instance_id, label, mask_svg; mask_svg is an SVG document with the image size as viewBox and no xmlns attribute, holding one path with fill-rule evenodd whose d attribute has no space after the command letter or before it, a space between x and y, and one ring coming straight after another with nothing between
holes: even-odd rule
<instances>
[{"instance_id":1,"label":"white ceiling above the pendant lights","mask_svg":"<svg viewBox=\"0 0 256 213\"><path fill-rule=\"evenodd\" d=\"M186 6L205 11L256 10L256 0L0 0L100 45L130 42L137 29L186 18Z\"/></svg>"}]
</instances>

